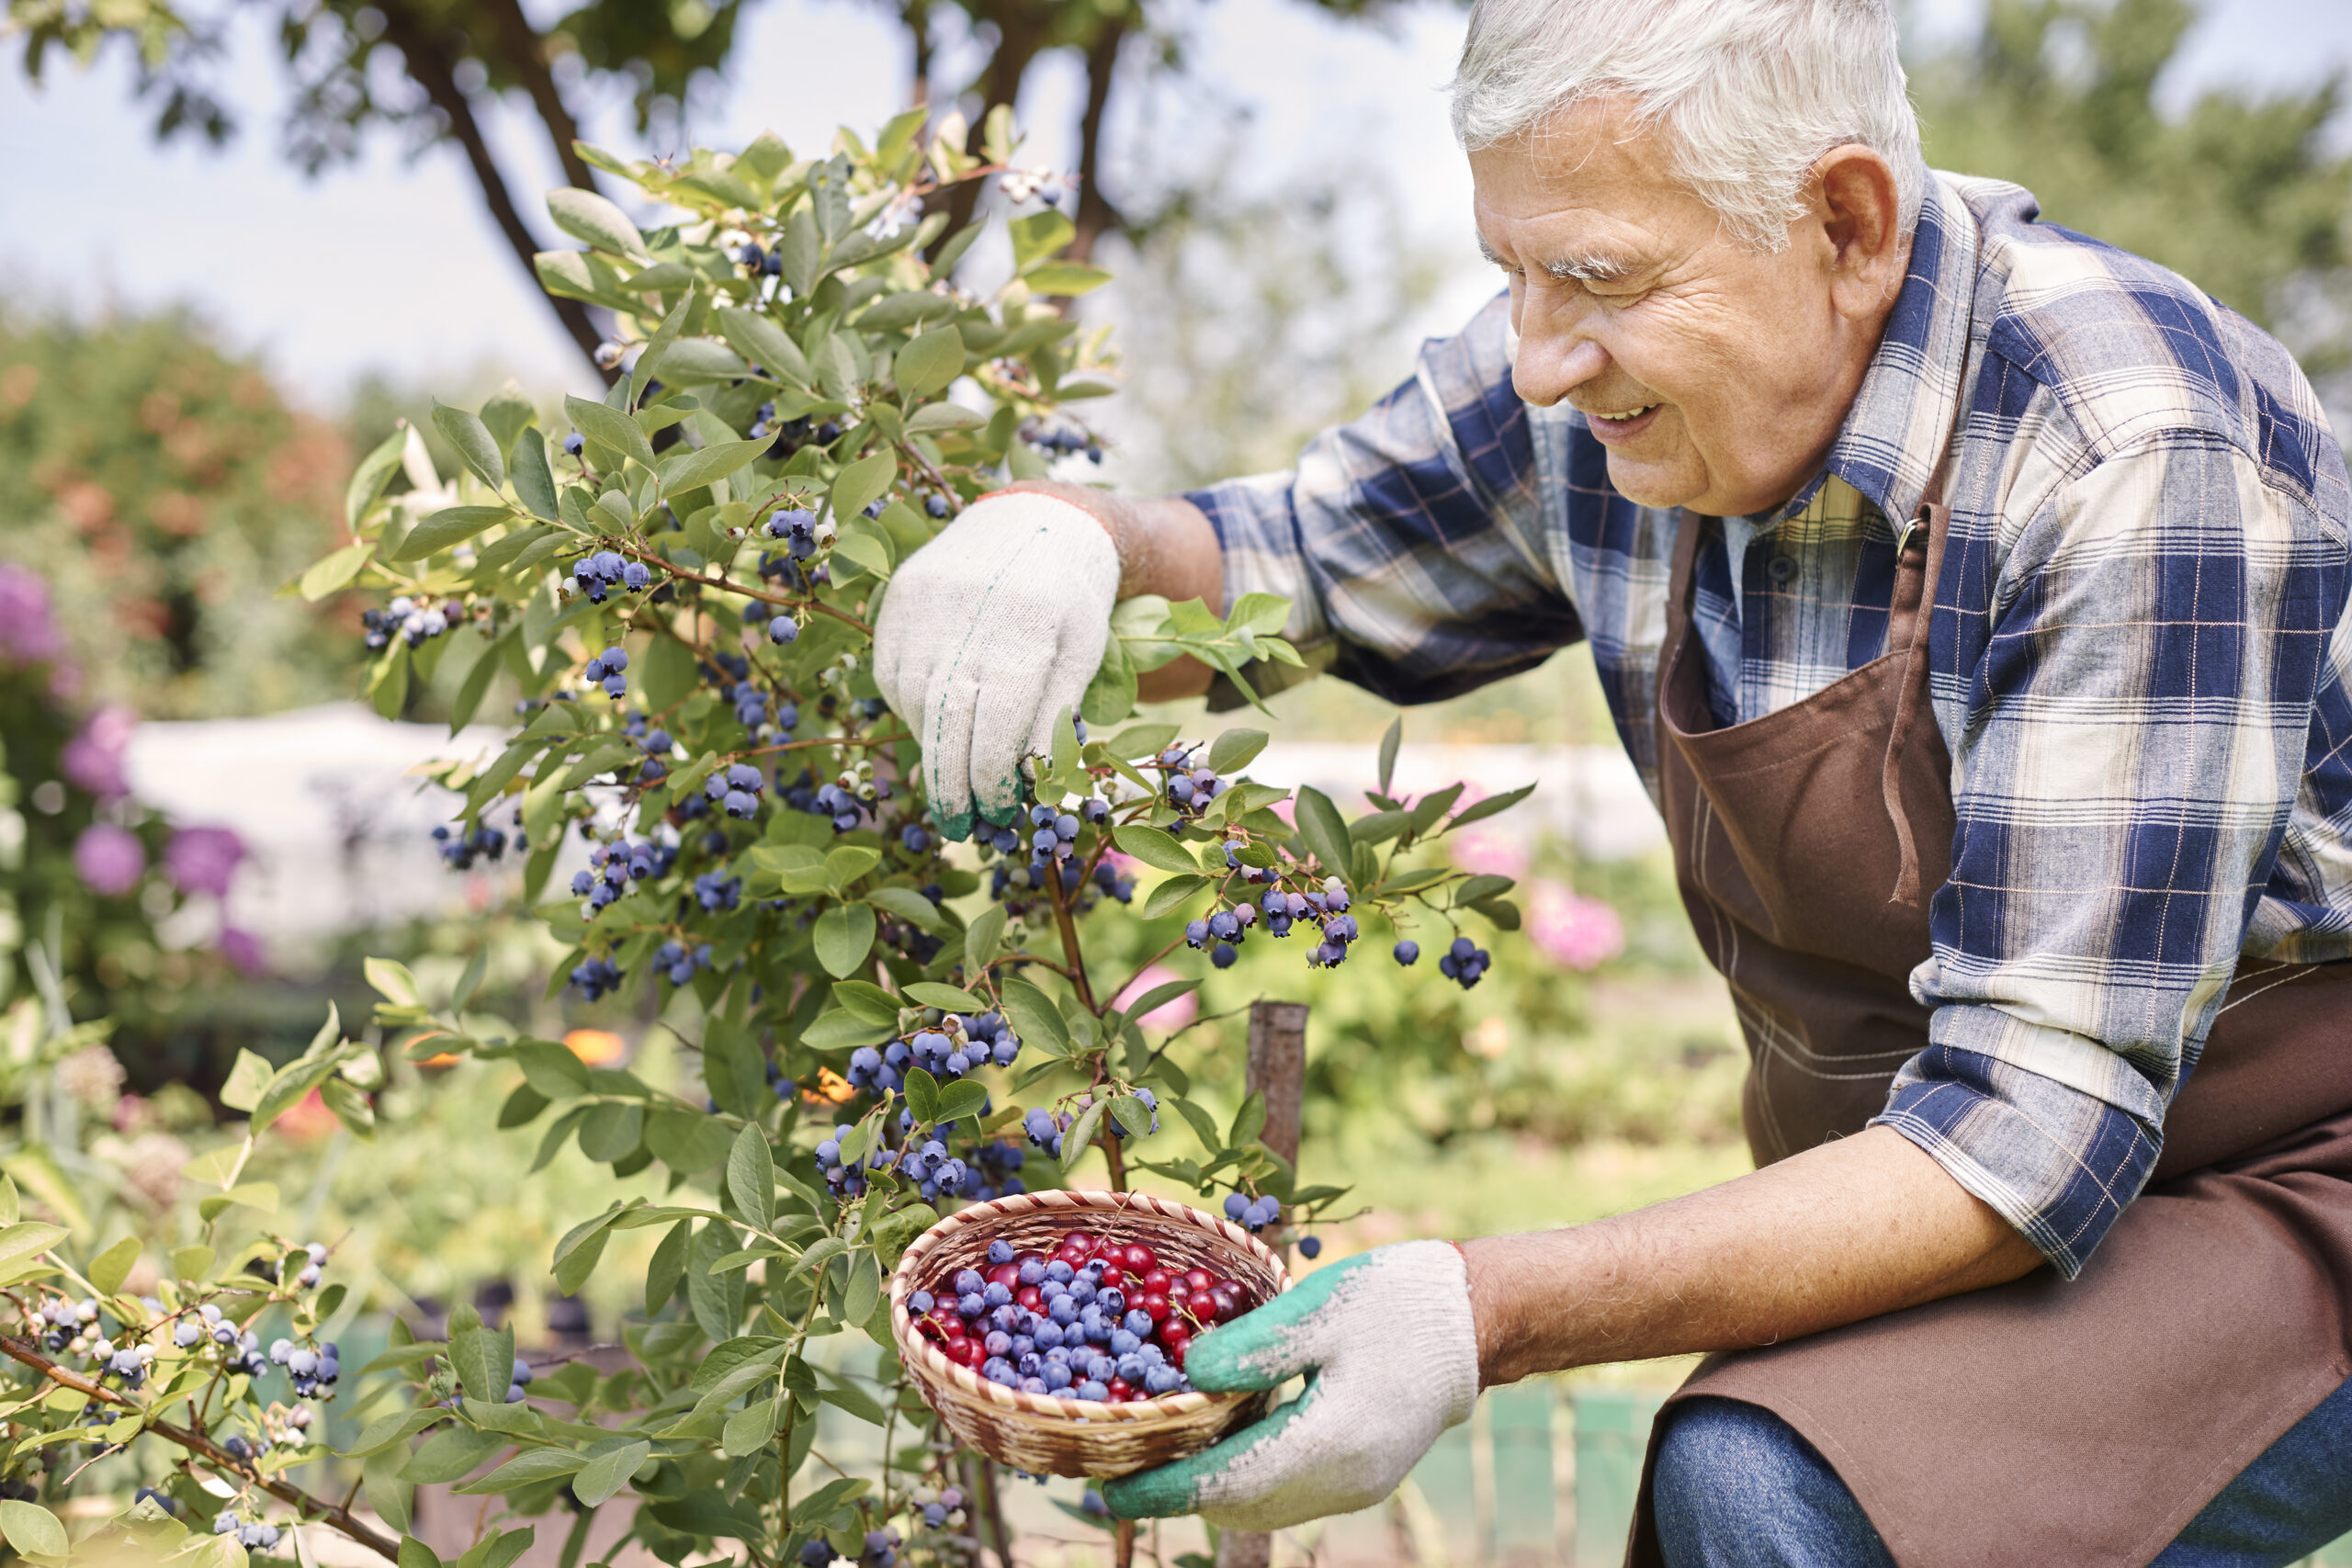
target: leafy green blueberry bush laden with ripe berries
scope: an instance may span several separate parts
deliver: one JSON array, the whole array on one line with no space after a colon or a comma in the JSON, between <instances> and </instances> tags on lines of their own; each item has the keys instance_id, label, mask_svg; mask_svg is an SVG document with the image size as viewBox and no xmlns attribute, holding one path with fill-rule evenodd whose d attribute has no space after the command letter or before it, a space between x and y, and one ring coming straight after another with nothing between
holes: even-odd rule
<instances>
[{"instance_id":1,"label":"leafy green blueberry bush laden with ripe berries","mask_svg":"<svg viewBox=\"0 0 2352 1568\"><path fill-rule=\"evenodd\" d=\"M562 418L513 395L435 407L461 470L442 480L414 433L395 435L353 477L353 543L301 578L310 597L369 595L367 684L383 712L428 679L454 684L456 724L494 693L513 703L501 750L435 771L463 799L440 853L517 858L524 898L569 947L550 994L642 1009L691 1063L689 1081L663 1086L499 1025L470 1006L480 957L430 1001L402 964L369 961L374 1051L503 1065L515 1081L499 1124L536 1138L539 1164L576 1145L616 1180L663 1178L659 1199L579 1215L550 1258L567 1293L612 1267L607 1253L642 1260L623 1371L567 1361L534 1380L513 1328L463 1307L447 1338L395 1328L365 1368L365 1429L341 1458L360 1469L355 1497L405 1533L405 1568L440 1561L407 1535L419 1483L501 1505L466 1568L503 1568L541 1530L576 1563L600 1509L626 1509L628 1537L668 1563L894 1568L971 1561L983 1540L1002 1554L995 1472L955 1450L891 1349L884 1281L906 1244L955 1204L1077 1180L1096 1157L1115 1187L1150 1171L1275 1241L1310 1241L1343 1194L1261 1143L1263 1100L1228 1119L1190 1098L1181 1041L1138 1020L1200 978L1136 994L1136 976L1223 969L1244 943L1289 938L1310 966L1395 961L1470 987L1489 957L1463 922L1517 922L1505 877L1416 865L1517 795L1402 799L1383 769L1374 811L1348 820L1315 790L1247 776L1261 731L1195 745L1178 724L1136 719L1136 675L1178 656L1244 693L1261 661L1296 663L1279 639L1289 607L1261 595L1225 614L1122 604L1082 710L1025 764L1021 816L943 839L920 750L870 677L875 607L898 562L974 498L1098 454L1073 409L1110 390L1110 360L1103 334L1054 303L1103 282L1061 256L1068 186L1016 165L1002 113L976 155L960 125L920 132L920 113L901 115L823 158L774 136L670 162L583 148L675 214L640 228L588 193L550 197L586 249L539 270L612 313L609 395L572 397ZM948 233L943 197L971 183L993 207ZM990 254L1009 277L962 287L957 261L997 226ZM1390 729L1390 759L1395 745ZM1112 945L1150 957L1089 961L1098 922L1143 931ZM1383 954L1357 959L1364 945ZM383 1067L334 1027L275 1077L254 1058L252 1128L320 1088L374 1133L362 1060ZM1169 1147L1171 1119L1185 1152ZM219 1201L235 1201L235 1171L221 1175ZM614 1246L637 1229L659 1234L649 1253ZM268 1284L240 1276L247 1305L221 1316L235 1342L200 1326L188 1345L219 1265L129 1302L66 1272L64 1234L40 1239L64 1281L42 1300L82 1324L78 1375L132 1347L148 1371L106 1371L141 1378L120 1392L132 1406L148 1389L186 1399L200 1373L252 1406L280 1375L299 1396L334 1387L320 1368L343 1371L315 1342L332 1314L308 1295L320 1265L301 1239L249 1244L238 1267L261 1262ZM292 1312L268 1347L278 1366L256 1349L263 1309ZM26 1333L68 1328L38 1316ZM92 1328L111 1361L87 1361ZM821 1354L835 1335L870 1340L873 1373ZM995 1375L1035 1368L1007 1359ZM87 1392L52 1403L129 1420ZM828 1406L880 1432L875 1462L816 1448ZM261 1552L296 1519L369 1540L318 1497L261 1500L294 1441L282 1422L263 1429L273 1448L226 1469L183 1441L198 1432L162 1434L238 1502L193 1483L165 1500ZM158 1533L228 1540L143 1507Z\"/></svg>"}]
</instances>

